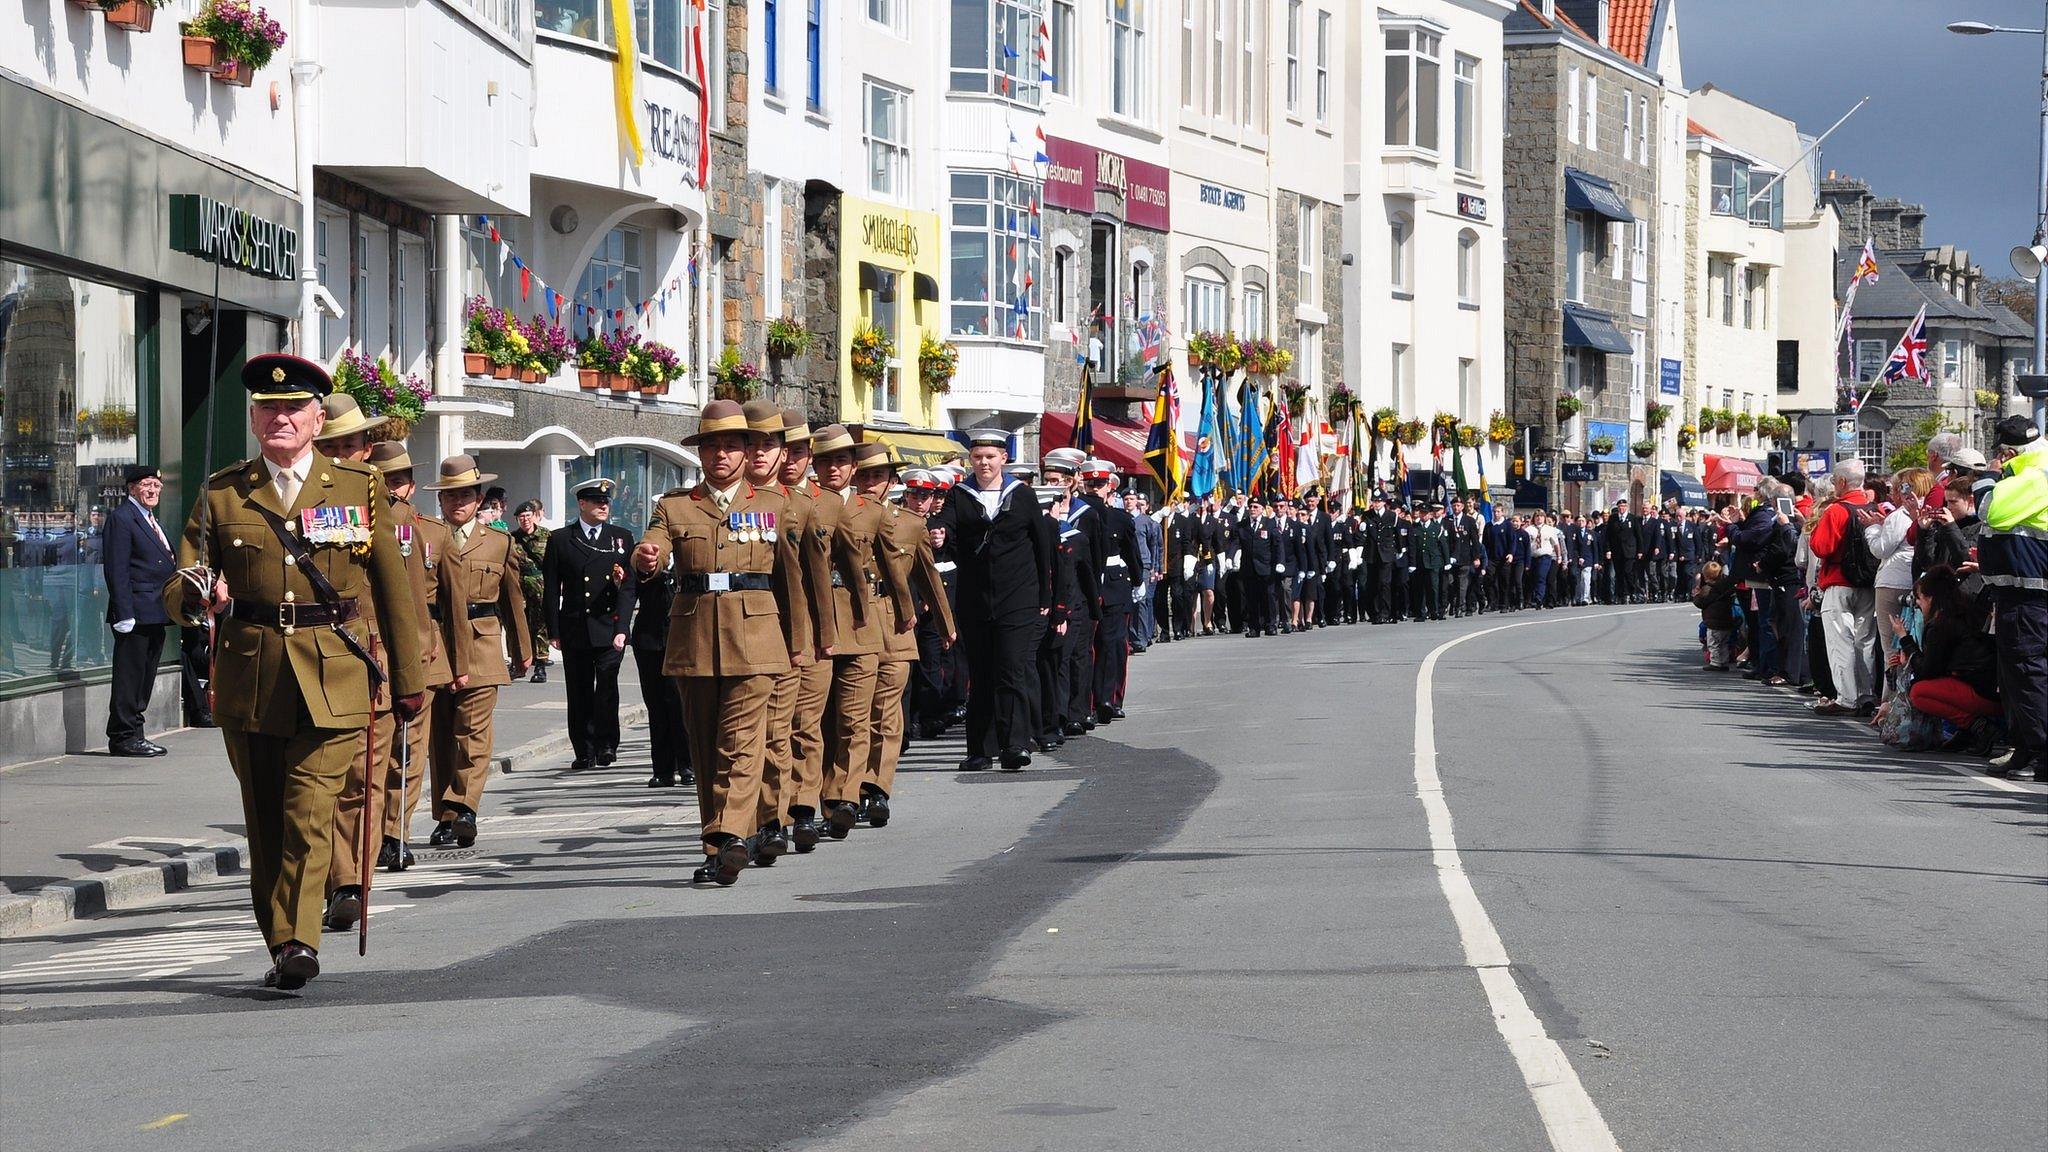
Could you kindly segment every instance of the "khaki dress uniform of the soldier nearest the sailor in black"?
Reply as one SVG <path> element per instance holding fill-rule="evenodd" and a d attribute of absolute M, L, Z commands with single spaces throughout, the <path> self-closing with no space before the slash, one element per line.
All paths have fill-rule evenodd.
<path fill-rule="evenodd" d="M 860 492 L 846 494 L 838 531 L 831 535 L 831 607 L 840 644 L 834 648 L 831 703 L 827 711 L 829 754 L 825 763 L 825 808 L 831 836 L 844 838 L 858 822 L 860 783 L 868 779 L 874 752 L 874 691 L 883 660 L 883 590 L 897 601 L 901 617 L 913 617 L 907 586 L 883 564 L 883 519 L 887 504 Z"/>

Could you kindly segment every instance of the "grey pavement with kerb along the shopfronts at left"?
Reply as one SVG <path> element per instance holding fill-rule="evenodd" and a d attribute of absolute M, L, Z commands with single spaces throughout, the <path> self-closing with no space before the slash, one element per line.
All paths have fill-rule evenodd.
<path fill-rule="evenodd" d="M 567 760 L 561 681 L 520 681 L 498 697 L 498 771 Z M 645 717 L 631 660 L 618 697 L 627 724 Z M 0 769 L 0 939 L 242 869 L 242 789 L 221 734 L 180 728 L 156 742 L 170 754 L 84 752 Z"/>

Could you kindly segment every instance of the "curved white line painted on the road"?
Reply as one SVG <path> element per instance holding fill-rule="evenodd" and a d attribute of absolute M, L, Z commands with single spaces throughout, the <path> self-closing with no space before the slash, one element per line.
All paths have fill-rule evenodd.
<path fill-rule="evenodd" d="M 1585 1095 L 1579 1072 L 1565 1058 L 1565 1050 L 1542 1029 L 1542 1021 L 1530 1011 L 1528 998 L 1507 970 L 1507 945 L 1495 931 L 1493 918 L 1479 902 L 1473 879 L 1464 873 L 1464 859 L 1458 857 L 1458 836 L 1450 826 L 1450 806 L 1444 804 L 1444 779 L 1436 773 L 1436 662 L 1466 640 L 1493 635 L 1516 627 L 1538 623 L 1569 623 L 1589 619 L 1614 619 L 1618 615 L 1665 611 L 1669 605 L 1653 609 L 1624 609 L 1583 617 L 1544 617 L 1520 623 L 1503 623 L 1446 640 L 1423 656 L 1415 672 L 1415 797 L 1430 814 L 1430 851 L 1436 859 L 1436 879 L 1450 902 L 1450 916 L 1458 922 L 1458 941 L 1464 945 L 1464 963 L 1479 972 L 1479 984 L 1487 990 L 1487 1004 L 1493 1009 L 1493 1027 L 1507 1041 L 1516 1066 L 1522 1068 L 1522 1082 L 1528 1084 L 1542 1115 L 1550 1148 L 1556 1152 L 1620 1152 L 1608 1119 L 1599 1115 L 1593 1097 Z"/>

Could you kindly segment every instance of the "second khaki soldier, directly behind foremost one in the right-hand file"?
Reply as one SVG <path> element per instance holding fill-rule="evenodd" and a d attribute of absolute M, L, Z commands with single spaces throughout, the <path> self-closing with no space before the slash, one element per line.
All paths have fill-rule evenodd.
<path fill-rule="evenodd" d="M 803 769 L 797 744 L 797 697 L 803 695 L 803 676 L 823 658 L 825 648 L 838 642 L 831 619 L 831 541 L 815 531 L 817 498 L 801 486 L 782 480 L 782 461 L 788 455 L 791 437 L 811 439 L 811 428 L 797 412 L 797 424 L 788 424 L 786 412 L 768 400 L 750 400 L 741 412 L 748 416 L 748 433 L 756 433 L 754 447 L 748 449 L 748 484 L 766 488 L 788 500 L 788 525 L 784 531 L 797 539 L 797 568 L 791 572 L 788 611 L 801 615 L 801 635 L 807 644 L 791 656 L 786 672 L 774 681 L 774 695 L 768 697 L 768 748 L 762 754 L 762 789 L 756 812 L 754 861 L 772 865 L 795 836 L 791 832 L 791 810 L 797 804 Z M 815 845 L 815 840 L 813 840 Z"/>

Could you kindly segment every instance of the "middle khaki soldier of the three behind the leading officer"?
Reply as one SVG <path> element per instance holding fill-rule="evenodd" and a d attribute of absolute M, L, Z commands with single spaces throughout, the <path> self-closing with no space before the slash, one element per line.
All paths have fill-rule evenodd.
<path fill-rule="evenodd" d="M 426 717 L 432 715 L 434 695 L 463 670 L 457 664 L 461 652 L 449 644 L 446 619 L 440 611 L 440 605 L 453 605 L 463 594 L 455 582 L 455 566 L 446 562 L 453 537 L 449 525 L 438 517 L 428 517 L 412 506 L 412 455 L 406 453 L 403 443 L 385 441 L 371 447 L 371 463 L 383 474 L 385 492 L 391 498 L 391 533 L 397 537 L 399 556 L 406 558 L 406 572 L 412 574 L 414 588 L 424 590 L 418 607 L 420 650 L 426 654 L 422 664 L 426 695 L 420 715 Z M 389 713 L 381 713 L 377 724 L 387 726 L 389 719 Z M 383 756 L 383 847 L 377 851 L 377 867 L 385 871 L 412 867 L 412 847 L 406 845 L 406 838 L 412 814 L 420 808 L 430 728 L 428 719 L 408 722 L 401 732 L 403 746 L 387 732 L 379 734 L 381 746 L 389 748 Z"/>

